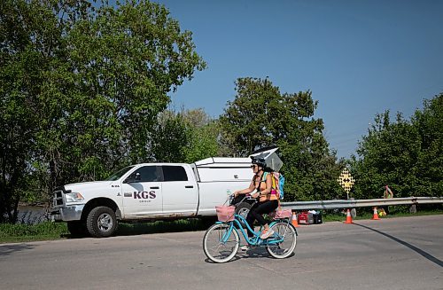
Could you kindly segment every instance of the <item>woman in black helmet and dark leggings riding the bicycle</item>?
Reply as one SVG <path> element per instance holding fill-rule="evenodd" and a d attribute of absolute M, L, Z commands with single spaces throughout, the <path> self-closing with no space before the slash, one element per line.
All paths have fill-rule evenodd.
<path fill-rule="evenodd" d="M 253 181 L 248 188 L 244 190 L 234 192 L 234 197 L 239 194 L 248 194 L 253 191 L 255 193 L 251 194 L 254 199 L 260 198 L 259 202 L 253 204 L 253 207 L 249 210 L 246 216 L 246 222 L 249 224 L 251 229 L 253 229 L 253 223 L 257 220 L 260 225 L 264 226 L 264 230 L 261 232 L 260 239 L 268 239 L 274 231 L 269 229 L 269 225 L 263 218 L 263 214 L 269 214 L 276 210 L 278 207 L 278 198 L 276 194 L 272 194 L 272 176 L 270 174 L 265 174 L 266 162 L 262 158 L 253 158 Z M 248 236 L 253 237 L 253 233 L 248 231 Z M 243 250 L 247 250 L 248 247 L 242 247 Z"/>

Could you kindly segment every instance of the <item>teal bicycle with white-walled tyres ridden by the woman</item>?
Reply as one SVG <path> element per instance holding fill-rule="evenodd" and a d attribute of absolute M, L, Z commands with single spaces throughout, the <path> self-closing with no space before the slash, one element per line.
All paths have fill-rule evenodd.
<path fill-rule="evenodd" d="M 235 214 L 228 218 L 219 216 L 219 220 L 221 221 L 207 229 L 203 238 L 203 251 L 206 257 L 215 263 L 228 262 L 237 254 L 240 246 L 238 231 L 243 234 L 250 246 L 266 247 L 269 255 L 276 259 L 284 259 L 294 253 L 297 245 L 297 230 L 287 216 L 278 217 L 277 214 L 274 221 L 269 223 L 269 228 L 274 231 L 274 234 L 268 239 L 260 239 L 262 227 L 260 231 L 253 231 L 244 216 Z M 247 231 L 253 233 L 252 238 L 248 238 Z"/>

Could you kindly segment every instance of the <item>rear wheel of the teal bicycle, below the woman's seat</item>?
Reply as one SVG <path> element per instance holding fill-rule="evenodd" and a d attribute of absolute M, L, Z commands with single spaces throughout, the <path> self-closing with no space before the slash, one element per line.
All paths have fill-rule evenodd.
<path fill-rule="evenodd" d="M 284 259 L 292 255 L 297 246 L 297 234 L 291 223 L 278 222 L 271 226 L 271 229 L 275 231 L 271 239 L 282 239 L 282 241 L 266 247 L 269 255 L 276 259 Z"/>

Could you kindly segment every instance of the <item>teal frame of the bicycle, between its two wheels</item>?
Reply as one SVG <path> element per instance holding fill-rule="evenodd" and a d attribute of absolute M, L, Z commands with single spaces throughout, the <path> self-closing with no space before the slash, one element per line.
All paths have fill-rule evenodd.
<path fill-rule="evenodd" d="M 269 227 L 273 226 L 275 223 L 280 223 L 280 222 L 288 223 L 288 226 L 290 226 L 289 225 L 289 220 L 275 220 L 275 221 L 272 221 L 272 223 L 269 224 Z M 217 223 L 229 223 L 229 230 L 221 238 L 221 242 L 223 242 L 223 243 L 225 243 L 229 239 L 230 234 L 232 233 L 232 231 L 237 231 L 237 228 L 235 227 L 235 225 L 237 225 L 238 229 L 243 234 L 243 237 L 245 238 L 247 243 L 249 245 L 252 245 L 252 246 L 278 245 L 279 243 L 282 243 L 284 241 L 284 235 L 286 234 L 286 232 L 284 232 L 284 235 L 281 236 L 281 235 L 275 233 L 274 237 L 271 237 L 271 238 L 268 238 L 268 239 L 260 239 L 260 231 L 261 231 L 262 227 L 260 227 L 260 231 L 259 232 L 253 231 L 253 229 L 251 229 L 249 224 L 246 222 L 245 217 L 239 216 L 239 215 L 235 215 L 233 221 L 230 221 L 230 222 L 217 222 Z M 246 231 L 243 228 L 241 223 L 244 223 L 246 225 Z M 250 231 L 250 232 L 253 233 L 253 237 L 252 238 L 248 237 L 247 231 Z M 295 232 L 297 234 L 297 231 L 295 231 Z M 237 233 L 238 233 L 238 231 L 237 231 Z"/>

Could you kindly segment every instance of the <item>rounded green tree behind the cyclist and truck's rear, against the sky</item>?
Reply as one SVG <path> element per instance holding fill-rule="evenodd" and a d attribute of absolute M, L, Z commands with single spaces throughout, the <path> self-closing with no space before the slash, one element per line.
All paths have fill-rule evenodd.
<path fill-rule="evenodd" d="M 237 79 L 236 90 L 220 122 L 237 155 L 277 145 L 288 200 L 336 197 L 340 188 L 332 180 L 339 167 L 323 137 L 323 120 L 313 117 L 317 102 L 311 91 L 282 94 L 268 79 L 257 78 Z"/>

